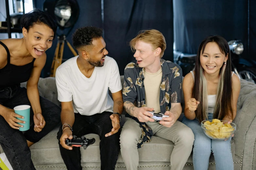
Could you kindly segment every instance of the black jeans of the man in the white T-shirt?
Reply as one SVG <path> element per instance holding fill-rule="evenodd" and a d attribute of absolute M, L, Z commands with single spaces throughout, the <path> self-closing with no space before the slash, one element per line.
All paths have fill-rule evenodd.
<path fill-rule="evenodd" d="M 92 116 L 84 116 L 75 113 L 75 122 L 73 125 L 73 135 L 81 137 L 87 134 L 98 134 L 100 137 L 100 160 L 101 170 L 113 170 L 118 158 L 120 149 L 120 130 L 109 137 L 105 135 L 111 132 L 112 121 L 110 119 L 111 112 L 98 113 Z M 68 170 L 81 170 L 81 152 L 80 147 L 73 147 L 72 150 L 63 148 L 60 145 L 60 137 L 62 129 L 58 132 L 60 154 L 67 166 Z"/>

